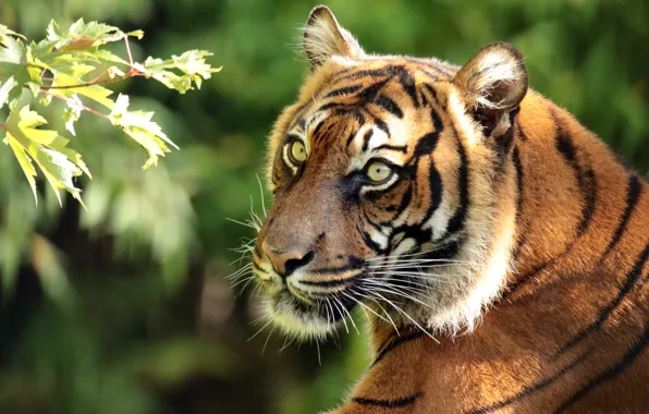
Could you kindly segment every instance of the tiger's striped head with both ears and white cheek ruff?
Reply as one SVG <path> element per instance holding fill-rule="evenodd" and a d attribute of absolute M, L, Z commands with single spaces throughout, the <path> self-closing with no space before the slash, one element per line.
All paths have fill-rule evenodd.
<path fill-rule="evenodd" d="M 266 312 L 301 336 L 354 307 L 473 329 L 509 269 L 516 180 L 502 159 L 527 92 L 521 53 L 495 44 L 463 68 L 368 54 L 326 7 L 304 50 L 310 74 L 269 139 L 273 204 L 253 255 Z"/>

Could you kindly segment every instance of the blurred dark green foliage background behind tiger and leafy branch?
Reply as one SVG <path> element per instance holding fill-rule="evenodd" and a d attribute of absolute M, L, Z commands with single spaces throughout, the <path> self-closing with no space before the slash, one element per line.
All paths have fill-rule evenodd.
<path fill-rule="evenodd" d="M 144 153 L 82 118 L 72 145 L 95 180 L 87 211 L 34 205 L 0 146 L 0 413 L 313 413 L 332 407 L 367 363 L 362 336 L 292 344 L 235 299 L 232 248 L 254 234 L 226 218 L 260 211 L 270 125 L 307 72 L 297 28 L 315 5 L 289 0 L 4 0 L 0 23 L 42 38 L 50 19 L 143 28 L 136 59 L 215 51 L 223 71 L 180 96 L 132 80 L 181 151 Z M 515 44 L 531 86 L 575 113 L 630 166 L 649 169 L 649 7 L 611 0 L 328 2 L 366 50 L 463 63 Z M 146 52 L 145 52 L 146 51 Z M 42 183 L 41 183 L 42 184 Z M 45 185 L 40 185 L 45 188 Z M 267 196 L 268 200 L 268 196 Z M 237 287 L 241 288 L 241 287 Z M 357 318 L 360 320 L 360 318 Z M 352 329 L 352 328 L 351 328 Z M 265 345 L 268 339 L 268 343 Z M 262 349 L 266 352 L 262 354 Z"/>

